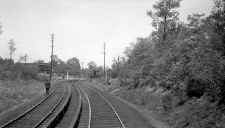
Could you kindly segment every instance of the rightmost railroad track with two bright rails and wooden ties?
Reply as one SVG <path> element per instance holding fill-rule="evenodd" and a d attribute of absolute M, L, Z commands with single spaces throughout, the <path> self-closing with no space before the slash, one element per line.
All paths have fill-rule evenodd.
<path fill-rule="evenodd" d="M 88 86 L 80 86 L 80 88 L 89 106 L 89 118 L 86 118 L 88 128 L 125 128 L 116 109 L 106 98 Z M 82 119 L 82 114 L 81 112 L 80 119 Z"/>

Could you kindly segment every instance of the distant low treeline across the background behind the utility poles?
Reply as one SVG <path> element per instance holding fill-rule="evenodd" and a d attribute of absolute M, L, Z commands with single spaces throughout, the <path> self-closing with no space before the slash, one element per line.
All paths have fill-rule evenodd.
<path fill-rule="evenodd" d="M 13 39 L 8 43 L 9 58 L 0 57 L 0 79 L 15 80 L 15 79 L 37 79 L 47 80 L 50 73 L 50 62 L 37 60 L 28 63 L 28 54 L 20 56 L 17 62 L 14 61 L 13 55 L 16 52 L 16 43 Z M 94 61 L 87 64 L 87 68 L 81 69 L 80 60 L 72 57 L 66 61 L 60 59 L 57 55 L 53 55 L 53 74 L 56 77 L 66 78 L 66 75 L 72 77 L 87 77 L 87 78 L 102 78 L 103 68 L 97 66 Z"/>

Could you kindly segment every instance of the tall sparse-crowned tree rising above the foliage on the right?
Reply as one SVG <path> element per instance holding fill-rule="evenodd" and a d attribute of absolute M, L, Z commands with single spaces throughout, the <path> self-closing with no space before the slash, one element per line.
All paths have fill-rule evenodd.
<path fill-rule="evenodd" d="M 159 0 L 153 5 L 155 12 L 147 12 L 153 19 L 153 27 L 162 33 L 163 40 L 166 39 L 168 31 L 176 26 L 175 22 L 178 20 L 179 13 L 175 9 L 180 6 L 180 2 L 181 0 Z"/>

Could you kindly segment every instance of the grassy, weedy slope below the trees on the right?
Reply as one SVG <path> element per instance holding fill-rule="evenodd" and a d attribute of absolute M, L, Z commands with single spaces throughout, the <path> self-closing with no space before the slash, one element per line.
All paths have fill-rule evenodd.
<path fill-rule="evenodd" d="M 128 89 L 112 84 L 104 90 L 148 110 L 150 116 L 172 128 L 225 128 L 225 106 L 218 107 L 204 96 L 188 98 L 178 105 L 180 97 L 160 88 Z"/>

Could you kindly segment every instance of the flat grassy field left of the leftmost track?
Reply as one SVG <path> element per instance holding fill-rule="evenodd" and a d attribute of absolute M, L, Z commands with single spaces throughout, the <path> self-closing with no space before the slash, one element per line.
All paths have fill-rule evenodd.
<path fill-rule="evenodd" d="M 44 86 L 38 81 L 0 81 L 0 113 L 43 93 Z"/>

